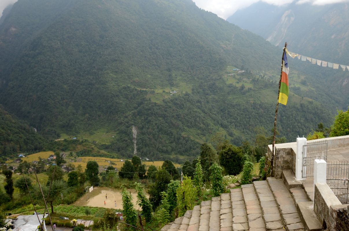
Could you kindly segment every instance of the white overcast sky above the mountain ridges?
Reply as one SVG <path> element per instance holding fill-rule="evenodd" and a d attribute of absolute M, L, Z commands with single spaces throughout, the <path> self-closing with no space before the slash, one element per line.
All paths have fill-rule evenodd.
<path fill-rule="evenodd" d="M 0 17 L 3 9 L 11 3 L 17 0 L 0 0 Z M 250 6 L 251 4 L 260 0 L 193 0 L 196 6 L 211 11 L 221 18 L 227 19 L 236 10 Z M 261 0 L 273 5 L 285 5 L 289 4 L 294 0 Z M 329 3 L 337 2 L 349 2 L 349 0 L 297 0 L 298 3 L 302 4 L 305 2 L 312 2 L 314 5 L 326 5 Z"/>

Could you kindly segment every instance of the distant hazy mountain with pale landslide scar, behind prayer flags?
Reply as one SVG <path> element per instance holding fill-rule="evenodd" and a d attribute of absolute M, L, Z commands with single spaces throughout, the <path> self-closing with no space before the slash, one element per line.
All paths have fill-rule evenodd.
<path fill-rule="evenodd" d="M 227 20 L 259 34 L 276 46 L 283 47 L 287 41 L 290 51 L 349 65 L 348 3 L 319 6 L 311 3 L 297 4 L 294 1 L 285 6 L 273 6 L 257 2 L 238 10 Z M 311 72 L 321 78 L 331 94 L 343 98 L 339 101 L 340 107 L 348 107 L 349 98 L 343 97 L 349 93 L 348 69 L 342 72 L 310 67 L 309 63 L 296 62 L 295 65 L 305 73 Z M 308 80 L 313 81 L 314 79 Z M 327 89 L 324 91 L 327 92 Z"/>

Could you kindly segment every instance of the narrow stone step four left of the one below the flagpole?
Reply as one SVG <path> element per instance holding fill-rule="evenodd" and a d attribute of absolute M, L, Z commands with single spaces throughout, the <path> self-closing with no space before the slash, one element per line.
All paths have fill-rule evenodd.
<path fill-rule="evenodd" d="M 221 194 L 221 231 L 232 231 L 233 213 L 231 209 L 230 193 Z"/>

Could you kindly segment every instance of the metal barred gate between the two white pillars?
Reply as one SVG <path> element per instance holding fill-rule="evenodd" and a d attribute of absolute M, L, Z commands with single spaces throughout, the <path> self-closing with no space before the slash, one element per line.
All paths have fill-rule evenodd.
<path fill-rule="evenodd" d="M 309 141 L 303 146 L 302 177 L 314 176 L 314 160 L 327 160 L 326 140 Z"/>

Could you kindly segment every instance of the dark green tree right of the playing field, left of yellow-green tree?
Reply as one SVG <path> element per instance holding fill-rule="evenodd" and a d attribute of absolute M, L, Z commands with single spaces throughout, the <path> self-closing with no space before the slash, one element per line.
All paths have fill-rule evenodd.
<path fill-rule="evenodd" d="M 150 185 L 148 190 L 149 201 L 153 205 L 153 209 L 159 206 L 161 201 L 161 192 L 167 190 L 167 185 L 171 181 L 171 176 L 165 169 L 156 172 L 155 183 Z"/>

